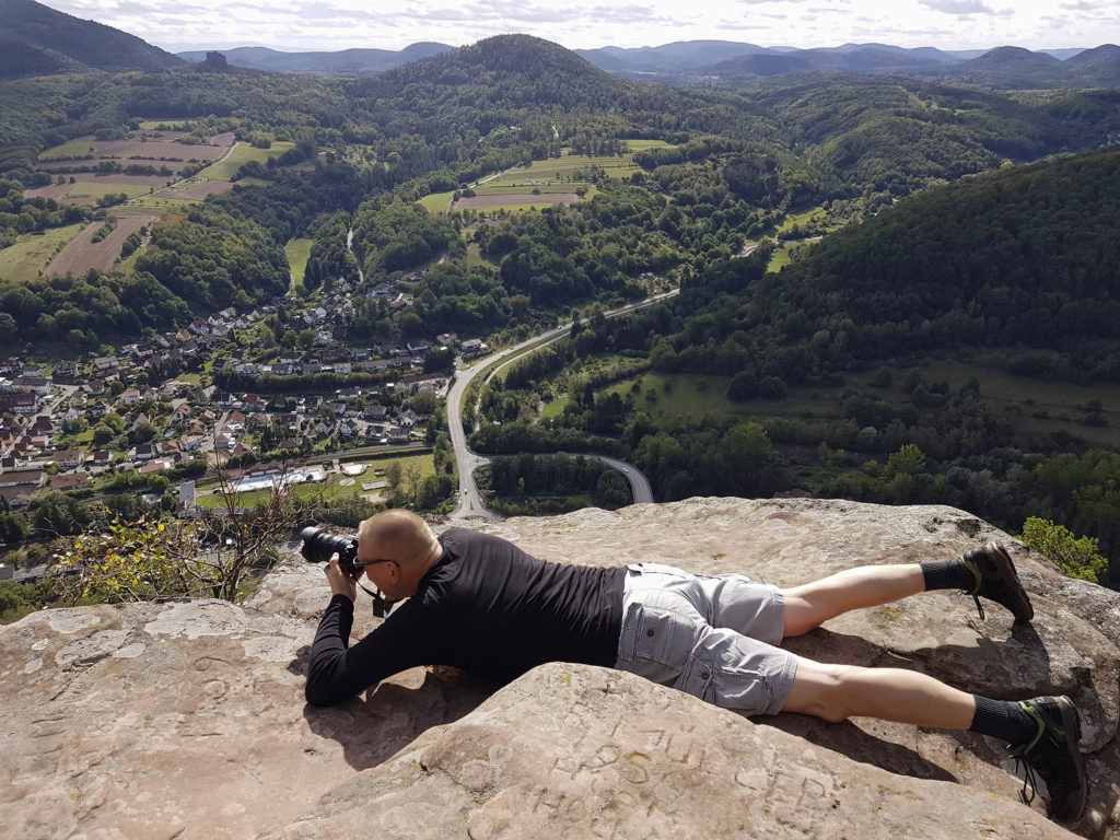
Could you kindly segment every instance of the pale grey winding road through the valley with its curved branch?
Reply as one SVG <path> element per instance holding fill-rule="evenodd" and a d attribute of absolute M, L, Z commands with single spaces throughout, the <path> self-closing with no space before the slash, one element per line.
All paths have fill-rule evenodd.
<path fill-rule="evenodd" d="M 627 304 L 626 306 L 618 307 L 617 309 L 612 309 L 604 312 L 604 315 L 608 318 L 627 315 L 636 311 L 637 309 L 653 306 L 654 304 L 671 298 L 676 293 L 678 290 L 673 289 L 672 291 L 666 291 L 661 295 L 654 295 L 653 297 L 646 298 L 645 300 L 641 300 L 636 304 Z M 580 320 L 584 323 L 586 319 Z M 572 321 L 569 321 L 568 324 L 563 324 L 554 329 L 541 333 L 522 342 L 521 344 L 507 347 L 493 356 L 487 356 L 473 365 L 460 367 L 456 373 L 455 382 L 447 392 L 447 427 L 451 435 L 451 447 L 455 450 L 456 467 L 459 472 L 459 506 L 455 510 L 451 516 L 457 519 L 467 516 L 482 516 L 491 520 L 502 519 L 498 514 L 486 507 L 486 503 L 484 502 L 482 494 L 478 492 L 478 487 L 475 485 L 475 469 L 489 463 L 489 458 L 477 455 L 467 448 L 467 436 L 463 428 L 463 398 L 467 392 L 467 388 L 480 374 L 494 374 L 526 353 L 531 353 L 541 347 L 547 347 L 553 342 L 563 338 L 571 332 L 571 326 Z M 633 464 L 627 464 L 626 461 L 622 461 L 616 458 L 608 458 L 604 455 L 587 452 L 581 452 L 581 455 L 587 458 L 601 460 L 622 472 L 626 480 L 629 482 L 631 492 L 634 494 L 635 503 L 653 501 L 653 489 L 650 486 L 650 479 L 646 478 L 645 474 Z"/>

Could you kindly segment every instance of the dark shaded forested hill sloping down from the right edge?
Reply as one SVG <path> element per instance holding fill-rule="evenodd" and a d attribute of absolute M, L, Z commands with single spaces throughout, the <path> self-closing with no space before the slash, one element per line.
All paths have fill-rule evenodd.
<path fill-rule="evenodd" d="M 806 345 L 843 333 L 858 358 L 1024 345 L 1120 382 L 1118 280 L 1120 151 L 1107 151 L 904 199 L 813 248 L 762 299 L 765 329 Z"/>

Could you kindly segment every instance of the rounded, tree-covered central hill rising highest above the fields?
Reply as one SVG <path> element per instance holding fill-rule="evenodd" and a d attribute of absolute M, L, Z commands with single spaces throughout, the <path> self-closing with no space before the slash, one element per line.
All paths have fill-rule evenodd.
<path fill-rule="evenodd" d="M 348 83 L 346 95 L 386 136 L 458 143 L 469 130 L 497 131 L 502 144 L 522 144 L 538 158 L 561 146 L 590 148 L 590 138 L 683 142 L 690 132 L 711 132 L 763 142 L 775 133 L 736 94 L 629 82 L 529 35 L 500 35 L 394 67 Z"/>

